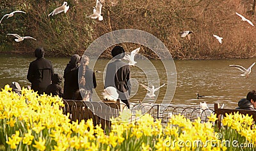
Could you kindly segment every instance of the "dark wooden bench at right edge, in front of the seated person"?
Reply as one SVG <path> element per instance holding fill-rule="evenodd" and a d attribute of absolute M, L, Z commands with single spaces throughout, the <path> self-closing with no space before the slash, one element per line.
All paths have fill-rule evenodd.
<path fill-rule="evenodd" d="M 243 115 L 249 115 L 249 116 L 252 115 L 254 122 L 256 122 L 256 111 L 245 110 L 245 109 L 221 109 L 220 104 L 214 104 L 214 113 L 217 115 L 216 117 L 218 118 L 218 120 L 216 120 L 216 124 L 218 123 L 219 129 L 221 128 L 221 115 L 225 116 L 226 113 L 234 114 L 234 113 L 237 113 L 237 111 Z"/>

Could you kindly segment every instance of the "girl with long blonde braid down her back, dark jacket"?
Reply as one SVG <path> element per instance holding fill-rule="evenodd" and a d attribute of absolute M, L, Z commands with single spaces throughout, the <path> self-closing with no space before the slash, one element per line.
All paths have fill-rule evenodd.
<path fill-rule="evenodd" d="M 81 91 L 81 96 L 83 98 L 86 98 L 86 95 L 89 94 L 90 101 L 92 101 L 92 89 L 96 88 L 96 78 L 95 78 L 95 72 L 93 72 L 92 69 L 88 67 L 90 59 L 88 56 L 82 56 L 81 63 L 80 63 L 80 72 L 79 72 L 79 86 Z M 86 92 L 86 93 L 85 93 Z"/>

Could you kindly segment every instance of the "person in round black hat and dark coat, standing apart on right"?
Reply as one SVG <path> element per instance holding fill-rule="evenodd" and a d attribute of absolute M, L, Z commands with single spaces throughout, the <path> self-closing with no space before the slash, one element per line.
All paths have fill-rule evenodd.
<path fill-rule="evenodd" d="M 129 108 L 129 95 L 131 94 L 131 83 L 129 82 L 130 66 L 121 59 L 125 56 L 124 48 L 115 46 L 111 55 L 113 61 L 108 64 L 105 78 L 105 88 L 113 86 L 116 88 L 119 99 Z"/>

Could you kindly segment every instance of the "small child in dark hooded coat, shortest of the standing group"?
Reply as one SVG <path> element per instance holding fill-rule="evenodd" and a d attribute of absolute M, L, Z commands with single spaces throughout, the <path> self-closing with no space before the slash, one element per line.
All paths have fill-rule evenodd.
<path fill-rule="evenodd" d="M 53 74 L 52 76 L 52 84 L 47 86 L 45 93 L 47 95 L 58 95 L 59 97 L 63 97 L 63 89 L 61 88 L 60 84 L 62 81 L 62 77 L 60 77 L 58 74 Z"/>

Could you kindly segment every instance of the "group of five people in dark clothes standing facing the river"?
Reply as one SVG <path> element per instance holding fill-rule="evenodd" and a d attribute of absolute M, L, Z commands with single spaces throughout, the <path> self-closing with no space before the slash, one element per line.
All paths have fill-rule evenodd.
<path fill-rule="evenodd" d="M 93 88 L 97 82 L 95 72 L 88 67 L 88 56 L 71 56 L 64 70 L 64 88 L 61 88 L 62 77 L 54 74 L 54 68 L 49 60 L 44 58 L 42 47 L 35 50 L 36 60 L 29 64 L 27 79 L 31 83 L 31 89 L 40 94 L 52 94 L 67 100 L 92 101 Z M 111 50 L 113 61 L 108 64 L 104 88 L 114 87 L 118 93 L 118 99 L 129 107 L 129 95 L 131 93 L 130 66 L 121 59 L 125 56 L 124 48 L 117 45 Z"/>

